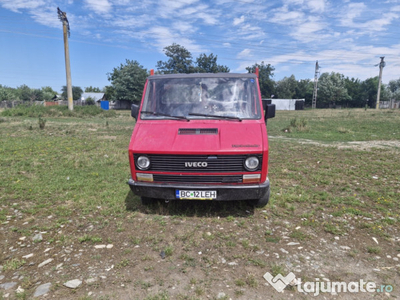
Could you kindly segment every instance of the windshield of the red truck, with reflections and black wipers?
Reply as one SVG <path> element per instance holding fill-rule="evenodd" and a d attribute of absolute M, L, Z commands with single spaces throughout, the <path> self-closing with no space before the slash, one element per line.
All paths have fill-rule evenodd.
<path fill-rule="evenodd" d="M 141 119 L 260 119 L 257 83 L 249 77 L 149 79 Z"/>

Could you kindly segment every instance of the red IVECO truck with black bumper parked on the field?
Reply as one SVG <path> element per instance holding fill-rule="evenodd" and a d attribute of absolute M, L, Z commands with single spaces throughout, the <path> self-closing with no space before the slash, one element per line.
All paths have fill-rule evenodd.
<path fill-rule="evenodd" d="M 275 105 L 261 100 L 256 74 L 151 75 L 131 115 L 128 184 L 143 204 L 268 203 L 266 120 Z"/>

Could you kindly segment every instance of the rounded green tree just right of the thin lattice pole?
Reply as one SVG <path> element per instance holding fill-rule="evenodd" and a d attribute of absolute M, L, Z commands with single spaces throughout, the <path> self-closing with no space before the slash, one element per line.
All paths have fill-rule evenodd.
<path fill-rule="evenodd" d="M 351 100 L 349 96 L 344 76 L 339 73 L 323 73 L 318 80 L 318 106 L 328 106 L 343 104 Z"/>

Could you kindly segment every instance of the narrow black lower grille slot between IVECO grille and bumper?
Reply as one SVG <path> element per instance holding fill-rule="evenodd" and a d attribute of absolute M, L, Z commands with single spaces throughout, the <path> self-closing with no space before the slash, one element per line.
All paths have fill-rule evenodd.
<path fill-rule="evenodd" d="M 242 175 L 160 175 L 154 174 L 155 182 L 189 182 L 189 183 L 241 183 Z"/>

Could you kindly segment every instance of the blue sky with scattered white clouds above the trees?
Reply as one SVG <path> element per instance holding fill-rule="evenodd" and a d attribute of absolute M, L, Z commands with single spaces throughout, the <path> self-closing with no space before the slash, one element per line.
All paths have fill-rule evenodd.
<path fill-rule="evenodd" d="M 275 67 L 274 80 L 339 72 L 383 82 L 400 78 L 400 0 L 0 0 L 0 84 L 66 84 L 62 24 L 67 13 L 72 84 L 109 85 L 107 73 L 137 60 L 155 69 L 163 48 L 218 56 L 231 72 L 254 63 Z"/>

